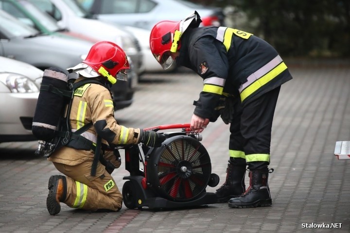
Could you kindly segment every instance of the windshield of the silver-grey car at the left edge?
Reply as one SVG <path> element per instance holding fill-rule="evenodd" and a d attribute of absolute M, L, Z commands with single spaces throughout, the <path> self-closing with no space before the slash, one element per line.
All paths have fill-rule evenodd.
<path fill-rule="evenodd" d="M 1 33 L 6 34 L 9 38 L 17 36 L 30 37 L 39 34 L 34 28 L 2 11 L 0 11 L 0 25 Z"/>

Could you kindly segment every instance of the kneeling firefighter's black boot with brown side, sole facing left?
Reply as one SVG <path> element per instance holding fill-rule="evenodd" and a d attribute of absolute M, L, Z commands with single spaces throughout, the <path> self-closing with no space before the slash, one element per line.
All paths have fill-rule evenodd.
<path fill-rule="evenodd" d="M 57 215 L 61 211 L 60 202 L 66 200 L 67 197 L 67 181 L 66 177 L 55 180 L 49 195 L 46 199 L 46 207 L 50 215 Z"/>

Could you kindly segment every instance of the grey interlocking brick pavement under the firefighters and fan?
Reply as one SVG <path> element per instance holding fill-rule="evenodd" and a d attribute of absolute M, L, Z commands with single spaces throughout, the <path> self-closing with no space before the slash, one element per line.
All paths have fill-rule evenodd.
<path fill-rule="evenodd" d="M 288 65 L 288 63 L 287 63 Z M 294 64 L 293 64 L 294 65 Z M 336 141 L 350 140 L 350 66 L 293 66 L 294 79 L 282 85 L 271 142 L 271 207 L 231 209 L 227 203 L 155 211 L 143 208 L 90 213 L 61 204 L 46 210 L 47 181 L 59 174 L 35 157 L 36 142 L 0 144 L 1 233 L 267 233 L 350 232 L 350 161 L 333 155 Z M 128 127 L 188 123 L 202 80 L 192 72 L 147 74 L 131 107 L 116 111 Z M 212 172 L 226 177 L 228 125 L 221 120 L 203 131 Z M 123 151 L 122 155 L 123 155 Z M 120 189 L 124 165 L 112 174 Z M 248 184 L 246 177 L 246 184 Z M 341 223 L 341 228 L 302 224 Z M 308 225 L 310 226 L 310 225 Z M 337 225 L 339 226 L 339 225 Z"/>

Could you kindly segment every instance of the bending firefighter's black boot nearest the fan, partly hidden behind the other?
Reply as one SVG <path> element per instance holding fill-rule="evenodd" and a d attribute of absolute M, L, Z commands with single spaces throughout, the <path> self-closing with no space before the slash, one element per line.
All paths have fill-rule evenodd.
<path fill-rule="evenodd" d="M 245 192 L 245 166 L 234 166 L 229 163 L 226 172 L 225 183 L 215 192 L 218 202 L 227 202 Z"/>

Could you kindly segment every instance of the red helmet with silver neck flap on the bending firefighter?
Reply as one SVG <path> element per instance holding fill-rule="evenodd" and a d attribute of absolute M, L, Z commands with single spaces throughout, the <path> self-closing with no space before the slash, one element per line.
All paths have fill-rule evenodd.
<path fill-rule="evenodd" d="M 160 21 L 152 29 L 150 34 L 150 48 L 153 56 L 163 69 L 169 68 L 175 59 L 175 52 L 180 49 L 180 37 L 188 27 L 198 27 L 202 22 L 198 13 L 181 20 Z"/>

